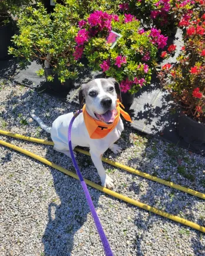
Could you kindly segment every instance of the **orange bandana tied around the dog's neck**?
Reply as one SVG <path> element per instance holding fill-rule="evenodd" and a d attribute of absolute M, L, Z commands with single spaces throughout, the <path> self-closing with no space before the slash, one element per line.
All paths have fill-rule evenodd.
<path fill-rule="evenodd" d="M 121 102 L 117 100 L 117 114 L 114 118 L 114 122 L 111 124 L 106 124 L 100 120 L 92 118 L 90 114 L 88 114 L 88 112 L 86 111 L 85 105 L 82 107 L 85 126 L 91 139 L 103 139 L 105 136 L 107 136 L 107 134 L 110 133 L 117 126 L 117 123 L 120 119 L 120 114 L 124 117 L 125 120 L 127 120 L 128 122 L 132 122 L 129 114 L 121 109 L 120 105 L 124 108 L 123 104 L 121 104 Z"/>

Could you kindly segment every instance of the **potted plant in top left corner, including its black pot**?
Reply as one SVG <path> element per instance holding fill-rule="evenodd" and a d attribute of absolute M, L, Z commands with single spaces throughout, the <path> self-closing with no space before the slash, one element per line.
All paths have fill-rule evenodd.
<path fill-rule="evenodd" d="M 0 60 L 8 57 L 8 47 L 11 45 L 11 37 L 14 35 L 12 15 L 18 14 L 22 5 L 29 1 L 2 0 L 0 1 Z"/>

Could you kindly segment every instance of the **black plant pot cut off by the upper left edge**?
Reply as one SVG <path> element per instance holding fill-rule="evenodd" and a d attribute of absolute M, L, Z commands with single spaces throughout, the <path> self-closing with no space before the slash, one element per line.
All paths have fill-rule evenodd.
<path fill-rule="evenodd" d="M 12 21 L 5 26 L 0 27 L 0 60 L 6 60 L 6 58 L 9 57 L 8 47 L 12 45 L 12 35 L 14 35 Z"/>

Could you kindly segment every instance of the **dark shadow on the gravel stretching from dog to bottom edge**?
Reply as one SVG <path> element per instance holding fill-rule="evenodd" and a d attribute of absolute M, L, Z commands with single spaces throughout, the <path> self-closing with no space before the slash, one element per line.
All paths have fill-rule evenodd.
<path fill-rule="evenodd" d="M 62 153 L 55 152 L 52 147 L 48 148 L 45 158 L 52 158 L 52 162 L 75 172 L 71 159 Z M 77 162 L 85 178 L 100 184 L 100 178 L 90 157 L 78 153 Z M 80 232 L 87 232 L 83 230 L 82 225 L 87 220 L 90 208 L 79 180 L 53 168 L 51 168 L 51 174 L 58 199 L 54 199 L 48 206 L 48 222 L 42 237 L 44 254 L 68 256 L 71 255 L 74 246 L 79 250 L 84 246 L 84 241 L 74 244 L 74 235 L 78 229 L 81 229 Z M 88 189 L 96 209 L 101 192 L 90 187 Z M 87 235 L 90 239 L 90 234 Z"/>

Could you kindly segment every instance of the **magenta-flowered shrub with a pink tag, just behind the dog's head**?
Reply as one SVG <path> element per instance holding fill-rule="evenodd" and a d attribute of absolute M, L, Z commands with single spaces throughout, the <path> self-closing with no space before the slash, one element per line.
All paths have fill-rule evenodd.
<path fill-rule="evenodd" d="M 150 83 L 157 49 L 167 42 L 160 30 L 144 31 L 133 15 L 117 16 L 103 11 L 93 12 L 79 22 L 79 27 L 75 37 L 75 60 L 84 54 L 90 67 L 114 77 L 124 93 L 135 93 Z M 111 29 L 121 35 L 114 48 L 111 45 L 116 35 L 110 33 Z"/>

